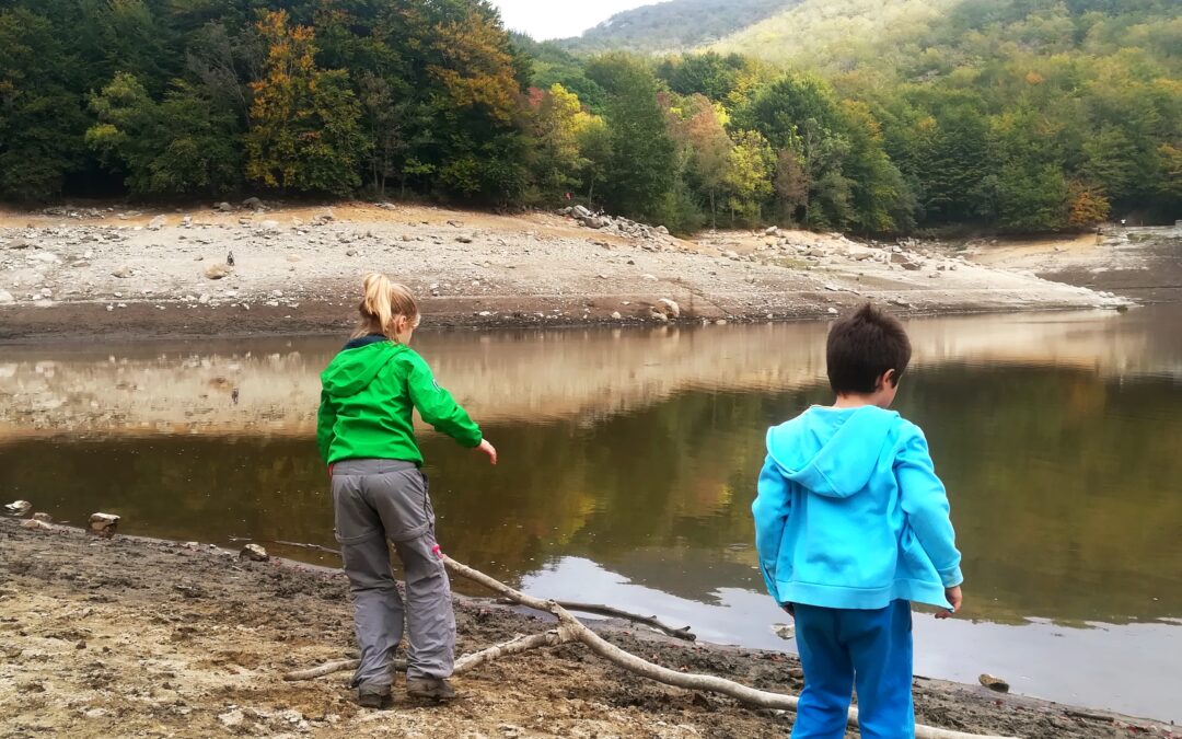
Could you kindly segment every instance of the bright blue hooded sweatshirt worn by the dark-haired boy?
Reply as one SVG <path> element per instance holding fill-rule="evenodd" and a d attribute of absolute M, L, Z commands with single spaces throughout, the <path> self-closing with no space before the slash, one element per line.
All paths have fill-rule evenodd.
<path fill-rule="evenodd" d="M 891 410 L 814 406 L 768 429 L 752 513 L 781 604 L 952 608 L 944 589 L 963 579 L 928 442 Z"/>

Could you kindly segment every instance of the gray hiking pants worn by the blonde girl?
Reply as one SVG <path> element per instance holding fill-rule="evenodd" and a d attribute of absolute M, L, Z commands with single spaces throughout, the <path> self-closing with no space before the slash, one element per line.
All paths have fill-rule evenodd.
<path fill-rule="evenodd" d="M 410 462 L 349 460 L 332 469 L 337 540 L 355 599 L 362 663 L 353 686 L 381 689 L 409 621 L 408 678 L 447 678 L 455 660 L 455 614 L 427 478 Z M 407 576 L 405 615 L 390 571 L 394 544 Z"/>

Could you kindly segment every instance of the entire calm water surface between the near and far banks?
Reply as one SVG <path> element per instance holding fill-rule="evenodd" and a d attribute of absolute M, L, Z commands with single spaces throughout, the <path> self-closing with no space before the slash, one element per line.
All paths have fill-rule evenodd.
<path fill-rule="evenodd" d="M 917 616 L 916 672 L 1182 719 L 1182 310 L 908 328 L 897 409 L 928 435 L 966 575 L 962 618 Z M 423 434 L 441 540 L 538 595 L 793 649 L 749 504 L 766 427 L 831 401 L 825 330 L 416 337 L 501 454 Z M 0 346 L 0 495 L 333 564 L 274 543 L 335 546 L 311 423 L 339 343 Z"/>

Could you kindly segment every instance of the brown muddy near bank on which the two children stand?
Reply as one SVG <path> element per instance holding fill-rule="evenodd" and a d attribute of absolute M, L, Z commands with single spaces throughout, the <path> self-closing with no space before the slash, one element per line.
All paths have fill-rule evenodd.
<path fill-rule="evenodd" d="M 782 737 L 791 715 L 642 681 L 580 647 L 486 666 L 447 706 L 396 693 L 358 708 L 346 676 L 281 675 L 348 655 L 348 588 L 337 572 L 247 563 L 208 547 L 0 520 L 0 733 L 97 737 Z M 460 650 L 545 628 L 538 617 L 457 598 Z M 777 653 L 687 644 L 622 624 L 621 647 L 687 670 L 798 692 Z M 917 679 L 917 715 L 1021 737 L 1175 737 L 1170 727 L 981 687 Z M 851 735 L 857 735 L 851 732 Z"/>

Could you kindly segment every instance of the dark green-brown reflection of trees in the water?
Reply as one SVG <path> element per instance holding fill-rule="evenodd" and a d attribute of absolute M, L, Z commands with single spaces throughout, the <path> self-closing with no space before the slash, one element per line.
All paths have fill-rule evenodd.
<path fill-rule="evenodd" d="M 423 439 L 440 537 L 509 581 L 582 556 L 710 601 L 758 590 L 749 503 L 764 428 L 824 388 L 674 395 L 629 414 L 487 429 L 501 465 Z M 1121 622 L 1182 615 L 1182 393 L 1078 370 L 944 365 L 905 380 L 950 490 L 972 615 Z M 128 531 L 332 545 L 310 440 L 152 437 L 0 446 L 0 490 Z"/>

